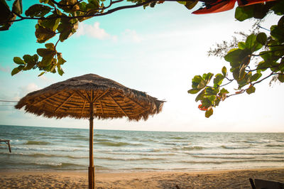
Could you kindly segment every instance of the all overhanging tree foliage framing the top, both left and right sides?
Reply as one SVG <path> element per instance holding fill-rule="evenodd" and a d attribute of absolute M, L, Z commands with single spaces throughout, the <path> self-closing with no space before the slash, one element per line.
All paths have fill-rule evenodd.
<path fill-rule="evenodd" d="M 38 69 L 40 75 L 45 72 L 58 72 L 62 75 L 62 65 L 66 62 L 62 53 L 56 47 L 77 31 L 79 22 L 96 16 L 104 16 L 122 9 L 131 9 L 138 6 L 154 7 L 163 4 L 164 1 L 153 0 L 39 0 L 39 4 L 33 4 L 25 11 L 22 0 L 13 0 L 11 7 L 6 3 L 11 0 L 0 0 L 0 31 L 9 30 L 12 23 L 26 19 L 37 20 L 35 25 L 35 37 L 37 43 L 45 43 L 45 48 L 38 48 L 34 55 L 23 55 L 23 58 L 15 57 L 13 62 L 17 67 L 11 72 Z M 175 0 L 165 0 L 175 1 Z M 227 11 L 234 7 L 237 0 L 184 0 L 178 3 L 187 9 L 192 9 L 202 1 L 203 7 L 193 13 L 214 13 Z M 263 4 L 263 1 L 267 1 Z M 245 36 L 244 41 L 234 39 L 233 43 L 225 43 L 217 50 L 209 52 L 212 55 L 224 57 L 229 62 L 230 68 L 222 68 L 222 72 L 216 75 L 204 73 L 196 75 L 192 79 L 190 94 L 197 94 L 196 102 L 201 104 L 198 108 L 205 112 L 205 117 L 213 114 L 213 108 L 221 101 L 233 95 L 241 93 L 251 94 L 256 91 L 255 85 L 263 80 L 273 77 L 273 81 L 284 82 L 284 1 L 282 0 L 238 0 L 235 18 L 244 21 L 249 18 L 264 18 L 268 13 L 282 16 L 277 25 L 270 28 L 270 35 L 266 33 L 251 33 Z M 24 16 L 23 16 L 24 13 Z M 244 35 L 243 35 L 244 36 Z M 51 38 L 58 38 L 57 43 L 46 43 Z M 230 50 L 227 52 L 227 50 Z M 252 58 L 257 58 L 256 65 L 251 63 Z M 269 72 L 267 74 L 267 72 Z M 39 76 L 40 76 L 39 75 Z M 212 81 L 212 85 L 209 83 Z M 229 93 L 224 86 L 236 82 L 236 92 Z"/>

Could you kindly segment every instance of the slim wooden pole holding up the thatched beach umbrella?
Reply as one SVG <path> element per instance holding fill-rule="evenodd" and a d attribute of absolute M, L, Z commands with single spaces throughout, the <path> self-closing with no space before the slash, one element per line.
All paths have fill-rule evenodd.
<path fill-rule="evenodd" d="M 89 105 L 89 189 L 94 189 L 94 104 Z"/>

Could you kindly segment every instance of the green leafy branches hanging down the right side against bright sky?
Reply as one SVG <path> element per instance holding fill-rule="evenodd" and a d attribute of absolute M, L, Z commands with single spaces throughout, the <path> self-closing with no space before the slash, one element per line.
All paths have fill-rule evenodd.
<path fill-rule="evenodd" d="M 197 94 L 196 102 L 201 102 L 198 108 L 205 111 L 205 117 L 213 114 L 213 108 L 219 106 L 221 101 L 233 95 L 244 92 L 252 94 L 256 92 L 256 84 L 272 78 L 284 82 L 284 1 L 269 2 L 266 4 L 253 4 L 251 6 L 237 7 L 235 18 L 244 21 L 248 18 L 264 18 L 267 13 L 275 13 L 280 17 L 278 23 L 271 26 L 270 36 L 266 33 L 251 33 L 244 41 L 236 41 L 224 54 L 224 60 L 229 63 L 222 72 L 216 75 L 204 73 L 195 75 L 192 79 L 190 94 Z M 224 49 L 229 45 L 220 45 L 219 50 L 211 50 L 209 54 L 223 56 Z M 256 63 L 252 63 L 256 58 Z M 213 79 L 213 84 L 209 82 Z M 224 88 L 231 82 L 236 82 L 238 87 L 235 92 L 229 92 Z"/>

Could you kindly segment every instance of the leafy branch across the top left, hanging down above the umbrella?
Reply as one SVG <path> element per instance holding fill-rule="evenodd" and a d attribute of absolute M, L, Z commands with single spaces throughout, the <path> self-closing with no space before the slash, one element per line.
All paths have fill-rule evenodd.
<path fill-rule="evenodd" d="M 57 43 L 45 43 L 45 48 L 38 48 L 35 55 L 23 55 L 23 58 L 15 57 L 13 61 L 18 67 L 13 69 L 11 75 L 31 69 L 41 70 L 40 75 L 45 72 L 58 72 L 59 75 L 62 75 L 64 72 L 61 67 L 66 60 L 62 58 L 62 54 L 57 51 L 56 46 L 77 31 L 79 22 L 122 9 L 138 6 L 143 6 L 145 9 L 147 6 L 154 7 L 156 4 L 164 2 L 153 0 L 126 0 L 126 2 L 124 0 L 39 0 L 38 4 L 33 4 L 25 11 L 22 0 L 13 0 L 11 7 L 6 1 L 11 0 L 0 0 L 0 31 L 8 30 L 12 23 L 17 21 L 33 19 L 38 21 L 35 25 L 37 43 L 45 43 L 51 38 L 58 38 Z M 187 9 L 192 9 L 198 1 L 178 2 Z"/>

